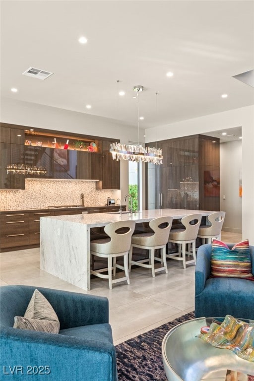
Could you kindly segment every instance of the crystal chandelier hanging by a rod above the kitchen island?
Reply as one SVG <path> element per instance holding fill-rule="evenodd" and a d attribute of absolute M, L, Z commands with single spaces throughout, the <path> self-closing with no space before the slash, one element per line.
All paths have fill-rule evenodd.
<path fill-rule="evenodd" d="M 162 164 L 162 150 L 160 148 L 143 147 L 139 144 L 139 107 L 138 107 L 138 93 L 143 91 L 141 85 L 133 87 L 137 92 L 137 123 L 138 123 L 138 144 L 122 144 L 111 143 L 110 152 L 112 153 L 113 160 L 128 160 L 153 164 Z"/>

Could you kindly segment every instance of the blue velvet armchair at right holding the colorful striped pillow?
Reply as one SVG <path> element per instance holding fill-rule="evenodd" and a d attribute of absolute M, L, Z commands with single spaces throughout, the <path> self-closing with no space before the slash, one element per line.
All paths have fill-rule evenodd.
<path fill-rule="evenodd" d="M 233 244 L 227 244 L 232 249 Z M 254 274 L 254 246 L 250 247 Z M 195 317 L 254 320 L 254 281 L 240 278 L 209 278 L 212 245 L 198 248 L 195 268 Z"/>

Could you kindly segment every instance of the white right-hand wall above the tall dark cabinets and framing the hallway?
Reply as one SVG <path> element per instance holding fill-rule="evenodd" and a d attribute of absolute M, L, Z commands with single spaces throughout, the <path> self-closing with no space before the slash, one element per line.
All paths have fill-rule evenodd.
<path fill-rule="evenodd" d="M 254 245 L 254 105 L 145 130 L 146 142 L 242 127 L 243 237 Z M 230 168 L 229 168 L 230 170 Z"/>

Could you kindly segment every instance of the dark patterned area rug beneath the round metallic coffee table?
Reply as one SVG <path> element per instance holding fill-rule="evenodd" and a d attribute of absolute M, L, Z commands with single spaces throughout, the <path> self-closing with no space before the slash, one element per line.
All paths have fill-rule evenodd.
<path fill-rule="evenodd" d="M 169 321 L 116 346 L 119 381 L 167 381 L 161 344 L 175 325 L 194 318 L 194 313 Z"/>

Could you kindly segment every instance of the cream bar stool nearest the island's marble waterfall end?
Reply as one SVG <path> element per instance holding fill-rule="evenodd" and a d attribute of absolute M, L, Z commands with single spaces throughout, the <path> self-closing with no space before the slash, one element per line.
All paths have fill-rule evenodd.
<path fill-rule="evenodd" d="M 129 284 L 128 274 L 128 251 L 130 248 L 131 236 L 135 229 L 135 221 L 117 221 L 105 226 L 104 231 L 109 238 L 91 241 L 90 254 L 108 258 L 108 267 L 98 270 L 90 270 L 90 273 L 109 280 L 109 288 L 112 289 L 112 283 L 122 282 L 127 280 Z M 124 266 L 117 263 L 117 257 L 124 256 Z M 113 263 L 112 263 L 113 259 Z M 116 267 L 125 271 L 125 276 L 112 280 L 113 275 L 116 275 Z M 108 274 L 102 272 L 108 271 Z"/>

